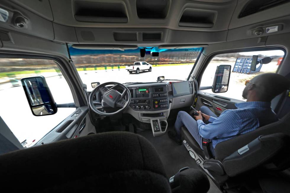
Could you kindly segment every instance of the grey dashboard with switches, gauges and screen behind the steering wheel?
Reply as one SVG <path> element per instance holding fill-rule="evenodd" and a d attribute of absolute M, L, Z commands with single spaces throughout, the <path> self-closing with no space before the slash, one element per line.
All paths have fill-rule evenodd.
<path fill-rule="evenodd" d="M 194 87 L 188 81 L 153 82 L 126 87 L 130 91 L 131 101 L 123 113 L 131 114 L 140 122 L 151 124 L 154 137 L 165 134 L 170 110 L 190 106 L 194 101 Z M 101 102 L 102 99 L 100 92 L 93 98 L 96 102 Z"/>

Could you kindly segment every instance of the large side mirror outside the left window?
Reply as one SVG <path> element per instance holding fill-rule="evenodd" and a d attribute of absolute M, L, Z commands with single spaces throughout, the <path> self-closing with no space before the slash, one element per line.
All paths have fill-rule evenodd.
<path fill-rule="evenodd" d="M 33 115 L 45 116 L 57 113 L 56 104 L 43 76 L 22 78 L 21 83 Z"/>

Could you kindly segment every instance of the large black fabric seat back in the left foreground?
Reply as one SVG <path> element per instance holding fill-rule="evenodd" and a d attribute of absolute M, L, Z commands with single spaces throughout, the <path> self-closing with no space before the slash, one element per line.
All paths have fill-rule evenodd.
<path fill-rule="evenodd" d="M 155 148 L 128 132 L 108 132 L 0 156 L 9 192 L 171 192 Z"/>

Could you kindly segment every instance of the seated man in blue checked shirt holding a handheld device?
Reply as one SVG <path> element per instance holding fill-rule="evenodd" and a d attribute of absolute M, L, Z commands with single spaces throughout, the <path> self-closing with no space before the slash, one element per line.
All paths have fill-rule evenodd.
<path fill-rule="evenodd" d="M 226 110 L 217 117 L 202 106 L 199 116 L 194 118 L 179 111 L 174 125 L 176 133 L 168 132 L 169 137 L 181 144 L 180 129 L 186 126 L 201 148 L 202 138 L 212 140 L 211 152 L 215 155 L 214 148 L 218 143 L 278 121 L 271 109 L 271 100 L 287 90 L 289 85 L 289 80 L 280 74 L 260 74 L 246 83 L 242 96 L 247 102 L 236 103 L 237 109 Z"/>

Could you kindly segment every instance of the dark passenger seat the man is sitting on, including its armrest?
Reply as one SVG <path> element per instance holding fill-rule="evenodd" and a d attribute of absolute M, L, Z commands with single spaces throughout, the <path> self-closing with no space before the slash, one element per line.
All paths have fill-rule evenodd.
<path fill-rule="evenodd" d="M 185 127 L 181 128 L 181 136 L 192 151 L 203 158 L 203 168 L 219 183 L 257 168 L 271 172 L 282 171 L 290 166 L 290 155 L 287 153 L 290 150 L 290 112 L 277 122 L 218 143 L 215 158 L 205 158 L 209 156 L 205 156 L 206 152 Z"/>

